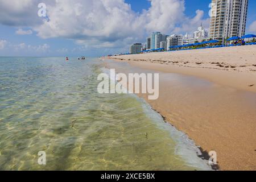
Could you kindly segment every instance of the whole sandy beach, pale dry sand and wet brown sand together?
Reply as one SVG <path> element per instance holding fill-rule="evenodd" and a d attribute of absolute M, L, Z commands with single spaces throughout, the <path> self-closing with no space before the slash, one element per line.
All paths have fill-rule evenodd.
<path fill-rule="evenodd" d="M 118 72 L 160 73 L 147 102 L 205 151 L 221 170 L 256 170 L 256 46 L 104 57 Z M 128 63 L 128 64 L 120 64 Z M 127 68 L 129 65 L 129 68 Z"/>

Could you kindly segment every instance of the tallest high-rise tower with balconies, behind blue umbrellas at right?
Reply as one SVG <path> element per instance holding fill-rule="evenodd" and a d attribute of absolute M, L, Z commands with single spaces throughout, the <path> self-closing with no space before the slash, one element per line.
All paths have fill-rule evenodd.
<path fill-rule="evenodd" d="M 212 0 L 210 38 L 222 40 L 245 35 L 248 0 Z"/>

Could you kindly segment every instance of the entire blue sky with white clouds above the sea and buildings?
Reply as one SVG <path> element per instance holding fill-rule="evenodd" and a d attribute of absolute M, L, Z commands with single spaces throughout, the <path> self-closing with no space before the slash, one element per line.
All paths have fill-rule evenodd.
<path fill-rule="evenodd" d="M 100 0 L 93 4 L 89 0 L 74 0 L 69 2 L 73 4 L 54 5 L 53 1 L 46 0 L 50 22 L 44 22 L 36 16 L 37 0 L 23 1 L 27 3 L 14 7 L 12 3 L 20 3 L 19 0 L 10 0 L 10 3 L 0 0 L 3 5 L 0 7 L 3 17 L 0 18 L 0 56 L 102 56 L 126 52 L 129 44 L 143 43 L 151 31 L 191 34 L 201 22 L 208 28 L 211 2 L 113 0 L 101 5 Z M 72 7 L 75 19 L 72 14 L 66 16 L 70 13 L 67 7 Z M 177 10 L 179 8 L 184 11 Z M 65 10 L 67 12 L 59 16 Z M 256 27 L 251 28 L 251 24 L 256 25 L 255 20 L 256 1 L 249 0 L 247 33 L 256 33 Z"/>

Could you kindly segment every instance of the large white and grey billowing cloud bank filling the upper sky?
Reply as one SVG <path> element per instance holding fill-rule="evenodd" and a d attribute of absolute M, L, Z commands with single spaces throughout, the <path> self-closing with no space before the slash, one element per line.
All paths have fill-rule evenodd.
<path fill-rule="evenodd" d="M 185 16 L 184 0 L 150 0 L 151 7 L 142 13 L 124 0 L 46 0 L 47 20 L 37 15 L 39 2 L 0 0 L 0 23 L 31 27 L 43 39 L 67 38 L 94 48 L 124 47 L 144 42 L 152 31 L 184 33 L 201 22 L 209 24 L 201 10 L 193 18 Z"/>

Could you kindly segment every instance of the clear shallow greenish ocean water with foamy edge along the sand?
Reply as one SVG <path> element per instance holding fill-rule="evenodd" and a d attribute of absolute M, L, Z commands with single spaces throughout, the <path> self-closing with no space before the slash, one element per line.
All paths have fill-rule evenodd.
<path fill-rule="evenodd" d="M 98 59 L 0 57 L 0 170 L 210 169 L 141 98 L 98 94 L 101 72 Z"/>

